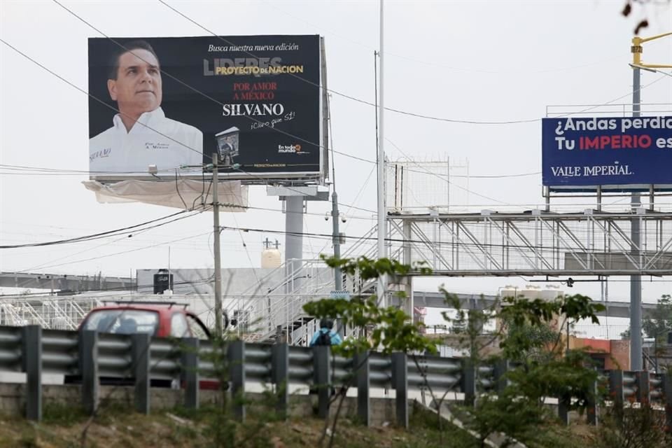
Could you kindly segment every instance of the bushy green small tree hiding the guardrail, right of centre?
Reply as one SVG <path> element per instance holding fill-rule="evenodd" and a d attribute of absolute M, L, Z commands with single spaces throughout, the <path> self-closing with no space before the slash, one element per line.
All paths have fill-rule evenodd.
<path fill-rule="evenodd" d="M 571 407 L 580 411 L 595 402 L 597 372 L 588 356 L 563 351 L 561 331 L 549 324 L 559 315 L 598 323 L 596 314 L 603 308 L 584 295 L 570 295 L 552 301 L 506 297 L 499 309 L 486 311 L 481 321 L 493 316 L 500 321 L 493 335 L 500 341 L 500 356 L 517 366 L 507 373 L 509 383 L 497 396 L 484 395 L 474 408 L 463 409 L 468 427 L 479 433 L 482 444 L 492 433 L 503 433 L 509 442 L 532 442 L 542 435 L 538 428 L 552 418 L 543 408 L 545 397 L 574 398 Z M 483 362 L 477 350 L 470 356 L 476 363 Z"/>

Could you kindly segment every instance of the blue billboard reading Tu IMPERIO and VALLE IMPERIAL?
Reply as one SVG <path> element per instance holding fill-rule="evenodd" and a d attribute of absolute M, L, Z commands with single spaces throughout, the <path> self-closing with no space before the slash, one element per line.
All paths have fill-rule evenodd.
<path fill-rule="evenodd" d="M 542 120 L 544 186 L 671 186 L 671 167 L 672 116 Z"/>

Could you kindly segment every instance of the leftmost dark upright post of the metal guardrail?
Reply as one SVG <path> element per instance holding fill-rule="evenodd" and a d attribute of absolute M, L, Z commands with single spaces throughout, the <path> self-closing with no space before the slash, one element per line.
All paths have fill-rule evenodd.
<path fill-rule="evenodd" d="M 26 418 L 42 420 L 42 327 L 26 325 L 22 329 L 24 369 L 26 372 Z"/>

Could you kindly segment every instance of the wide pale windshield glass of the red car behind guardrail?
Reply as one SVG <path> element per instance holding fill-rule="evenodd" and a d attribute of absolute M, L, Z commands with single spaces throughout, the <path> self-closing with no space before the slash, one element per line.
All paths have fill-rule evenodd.
<path fill-rule="evenodd" d="M 99 309 L 87 317 L 83 330 L 97 330 L 103 333 L 132 335 L 134 333 L 155 334 L 159 314 L 144 309 Z"/>

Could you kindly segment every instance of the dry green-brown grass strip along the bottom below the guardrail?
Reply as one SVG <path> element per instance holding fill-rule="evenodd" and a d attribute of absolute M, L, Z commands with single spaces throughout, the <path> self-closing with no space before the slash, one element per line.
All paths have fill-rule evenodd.
<path fill-rule="evenodd" d="M 251 406 L 246 423 L 233 421 L 215 407 L 155 412 L 148 416 L 123 407 L 104 408 L 87 431 L 86 447 L 318 447 L 323 421 L 312 418 L 276 419 L 271 409 Z M 177 417 L 177 418 L 176 418 Z M 45 408 L 45 419 L 31 423 L 0 415 L 0 447 L 81 447 L 81 433 L 88 417 L 76 408 Z M 342 418 L 335 435 L 335 447 L 352 448 L 476 448 L 479 443 L 465 430 L 442 424 L 437 416 L 416 405 L 410 430 L 393 425 L 367 428 L 357 419 Z M 584 428 L 585 429 L 585 428 Z M 235 434 L 235 436 L 231 436 Z M 591 433 L 592 434 L 592 433 Z M 219 435 L 219 440 L 216 440 Z M 575 428 L 548 426 L 530 448 L 589 447 L 589 438 L 577 437 Z M 326 444 L 325 444 L 326 446 Z"/>

